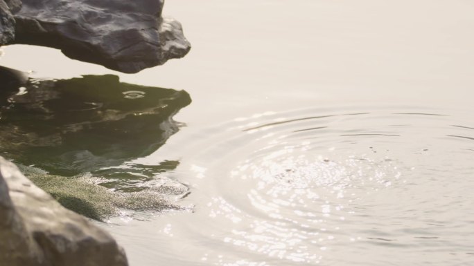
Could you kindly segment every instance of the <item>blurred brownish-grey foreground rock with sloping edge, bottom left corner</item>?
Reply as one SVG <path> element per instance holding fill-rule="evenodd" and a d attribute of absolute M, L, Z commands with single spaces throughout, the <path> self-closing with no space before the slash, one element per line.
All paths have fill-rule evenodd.
<path fill-rule="evenodd" d="M 64 209 L 1 157 L 0 217 L 0 265 L 128 265 L 109 234 Z"/>

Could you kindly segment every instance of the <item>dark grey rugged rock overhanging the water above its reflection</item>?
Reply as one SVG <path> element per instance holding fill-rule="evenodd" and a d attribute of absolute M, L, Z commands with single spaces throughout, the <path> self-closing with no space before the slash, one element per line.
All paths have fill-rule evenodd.
<path fill-rule="evenodd" d="M 2 1 L 2 0 L 0 0 Z M 23 0 L 15 42 L 49 46 L 72 59 L 124 73 L 184 57 L 181 24 L 161 17 L 164 0 Z"/>

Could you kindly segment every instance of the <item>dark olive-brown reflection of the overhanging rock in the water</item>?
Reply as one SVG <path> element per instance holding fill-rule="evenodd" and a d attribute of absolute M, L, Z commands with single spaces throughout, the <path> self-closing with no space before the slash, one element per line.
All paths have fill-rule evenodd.
<path fill-rule="evenodd" d="M 4 90 L 3 90 L 4 91 Z M 0 107 L 6 158 L 76 175 L 148 155 L 177 132 L 185 91 L 119 82 L 114 75 L 30 80 Z"/>

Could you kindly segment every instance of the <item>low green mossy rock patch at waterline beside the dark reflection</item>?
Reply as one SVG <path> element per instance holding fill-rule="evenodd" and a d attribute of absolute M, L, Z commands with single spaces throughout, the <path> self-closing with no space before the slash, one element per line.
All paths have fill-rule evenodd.
<path fill-rule="evenodd" d="M 188 209 L 175 203 L 189 193 L 188 187 L 169 178 L 155 178 L 152 187 L 123 192 L 101 186 L 100 183 L 107 180 L 90 173 L 71 178 L 49 175 L 35 167 L 20 169 L 63 207 L 94 220 L 103 221 L 128 210 L 161 212 Z"/>

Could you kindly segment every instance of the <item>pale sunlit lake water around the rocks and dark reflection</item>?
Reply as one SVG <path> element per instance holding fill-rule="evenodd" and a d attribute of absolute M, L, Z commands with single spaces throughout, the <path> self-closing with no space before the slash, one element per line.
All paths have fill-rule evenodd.
<path fill-rule="evenodd" d="M 473 12 L 465 0 L 173 0 L 164 14 L 193 44 L 184 59 L 125 75 L 11 46 L 0 64 L 191 95 L 179 131 L 130 160 L 177 162 L 155 175 L 189 187 L 188 211 L 99 223 L 132 266 L 474 265 Z"/>

